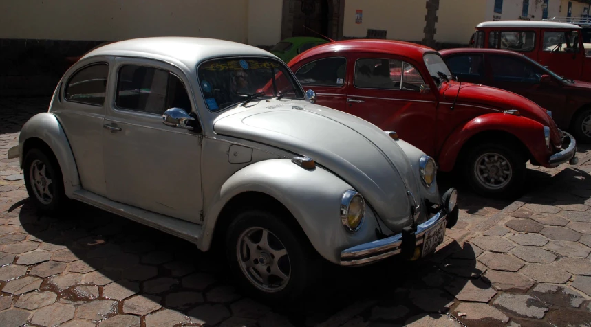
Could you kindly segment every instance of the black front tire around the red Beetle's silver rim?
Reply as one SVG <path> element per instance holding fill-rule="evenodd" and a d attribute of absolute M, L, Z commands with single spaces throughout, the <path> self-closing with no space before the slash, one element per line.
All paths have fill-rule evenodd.
<path fill-rule="evenodd" d="M 501 179 L 497 178 L 492 183 L 491 180 L 488 180 L 487 185 L 486 178 L 479 177 L 479 170 L 477 170 L 476 166 L 477 161 L 482 161 L 484 160 L 484 156 L 488 157 L 490 155 L 493 155 L 493 157 L 494 155 L 497 155 L 499 161 L 495 162 L 495 164 L 491 164 L 491 168 L 488 172 L 492 172 L 495 176 L 499 176 L 499 167 L 506 167 L 506 165 L 510 166 L 511 170 L 503 169 L 505 172 L 510 172 L 508 178 L 507 175 L 501 176 L 504 177 L 503 182 L 499 183 Z M 523 151 L 516 146 L 502 143 L 496 144 L 492 142 L 477 144 L 473 146 L 473 148 L 470 148 L 466 154 L 463 165 L 464 177 L 477 194 L 497 199 L 515 199 L 520 196 L 524 190 L 527 174 L 526 158 L 527 156 Z M 501 164 L 498 164 L 499 162 Z M 486 173 L 486 171 L 480 171 L 481 175 Z M 498 183 L 498 185 L 494 185 L 494 183 Z"/>

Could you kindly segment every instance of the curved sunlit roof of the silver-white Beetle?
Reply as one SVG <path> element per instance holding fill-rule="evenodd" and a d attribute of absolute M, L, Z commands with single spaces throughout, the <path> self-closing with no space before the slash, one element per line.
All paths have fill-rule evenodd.
<path fill-rule="evenodd" d="M 92 56 L 134 56 L 156 60 L 178 60 L 189 69 L 208 58 L 221 56 L 270 56 L 263 49 L 214 38 L 158 37 L 134 38 L 98 47 L 83 58 Z"/>

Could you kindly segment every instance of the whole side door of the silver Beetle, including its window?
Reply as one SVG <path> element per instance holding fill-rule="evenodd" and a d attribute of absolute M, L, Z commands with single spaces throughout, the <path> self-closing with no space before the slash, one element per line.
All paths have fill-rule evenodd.
<path fill-rule="evenodd" d="M 162 113 L 195 108 L 184 73 L 164 63 L 117 58 L 103 129 L 108 198 L 200 222 L 200 134 L 162 124 Z"/>

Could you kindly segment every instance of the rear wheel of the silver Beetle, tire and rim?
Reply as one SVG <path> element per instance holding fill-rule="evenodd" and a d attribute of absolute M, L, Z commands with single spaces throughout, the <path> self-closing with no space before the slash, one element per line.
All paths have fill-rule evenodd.
<path fill-rule="evenodd" d="M 63 190 L 61 170 L 54 157 L 42 150 L 29 150 L 24 159 L 25 185 L 32 203 L 44 214 L 63 210 L 67 198 Z"/>

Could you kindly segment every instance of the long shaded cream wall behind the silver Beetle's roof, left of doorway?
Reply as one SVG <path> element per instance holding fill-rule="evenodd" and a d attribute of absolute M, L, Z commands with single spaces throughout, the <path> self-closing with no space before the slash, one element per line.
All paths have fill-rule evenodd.
<path fill-rule="evenodd" d="M 202 36 L 246 42 L 248 9 L 248 0 L 5 0 L 0 38 Z"/>

